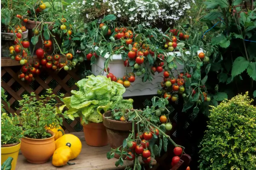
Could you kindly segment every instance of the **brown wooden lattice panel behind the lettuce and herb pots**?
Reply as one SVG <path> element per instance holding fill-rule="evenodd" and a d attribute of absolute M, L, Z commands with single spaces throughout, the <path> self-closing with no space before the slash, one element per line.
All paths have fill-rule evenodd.
<path fill-rule="evenodd" d="M 34 92 L 36 97 L 46 94 L 46 89 L 52 88 L 54 94 L 64 94 L 64 97 L 71 95 L 71 90 L 76 90 L 75 83 L 79 81 L 80 77 L 76 74 L 77 68 L 72 71 L 53 71 L 51 69 L 42 69 L 41 74 L 35 77 L 35 81 L 26 82 L 18 78 L 20 73 L 20 66 L 6 66 L 1 67 L 1 86 L 5 89 L 7 95 L 8 105 L 3 102 L 3 108 L 9 113 L 19 114 L 19 103 L 24 94 Z M 58 102 L 61 102 L 56 98 Z M 82 131 L 80 119 L 74 121 L 70 119 L 63 120 L 64 130 L 68 133 L 75 131 Z"/>

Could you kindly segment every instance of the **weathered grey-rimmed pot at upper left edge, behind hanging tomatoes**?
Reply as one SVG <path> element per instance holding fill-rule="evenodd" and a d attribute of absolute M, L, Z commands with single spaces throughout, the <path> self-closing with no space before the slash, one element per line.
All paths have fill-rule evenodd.
<path fill-rule="evenodd" d="M 28 30 L 22 33 L 23 38 L 28 37 Z M 13 33 L 1 32 L 1 58 L 9 57 L 9 47 L 14 45 L 15 36 Z"/>

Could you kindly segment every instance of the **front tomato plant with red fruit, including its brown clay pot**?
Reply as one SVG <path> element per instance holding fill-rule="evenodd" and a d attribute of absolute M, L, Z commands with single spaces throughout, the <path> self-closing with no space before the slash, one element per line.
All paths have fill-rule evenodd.
<path fill-rule="evenodd" d="M 184 147 L 176 144 L 167 131 L 172 129 L 168 119 L 169 111 L 166 108 L 167 99 L 154 97 L 152 106 L 144 111 L 138 110 L 115 110 L 103 114 L 103 123 L 107 127 L 111 151 L 107 158 L 118 158 L 115 165 L 123 165 L 126 161 L 134 161 L 134 170 L 141 170 L 141 161 L 146 166 L 152 165 L 155 156 L 163 150 L 167 151 L 168 142 L 175 146 L 172 158 L 172 166 L 180 161 Z M 114 137 L 112 136 L 114 134 Z M 144 166 L 143 164 L 143 166 Z"/>

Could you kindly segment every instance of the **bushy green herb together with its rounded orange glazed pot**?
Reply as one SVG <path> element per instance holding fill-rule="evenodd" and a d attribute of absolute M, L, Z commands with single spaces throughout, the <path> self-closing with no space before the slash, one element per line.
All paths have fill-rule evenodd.
<path fill-rule="evenodd" d="M 20 150 L 30 163 L 45 163 L 55 151 L 55 133 L 46 130 L 46 127 L 62 125 L 62 118 L 57 114 L 59 104 L 56 104 L 56 99 L 62 96 L 52 94 L 52 89 L 47 89 L 46 95 L 39 98 L 32 92 L 19 101 L 20 123 L 24 130 Z"/>

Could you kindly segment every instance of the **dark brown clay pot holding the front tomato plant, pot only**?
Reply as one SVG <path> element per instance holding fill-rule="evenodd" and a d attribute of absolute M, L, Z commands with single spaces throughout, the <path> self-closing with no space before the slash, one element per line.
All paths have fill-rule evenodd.
<path fill-rule="evenodd" d="M 127 110 L 128 111 L 128 110 Z M 131 109 L 131 111 L 134 111 Z M 106 119 L 106 117 L 112 116 L 111 111 L 105 112 L 103 115 L 103 125 L 107 129 L 108 141 L 111 148 L 116 149 L 123 144 L 124 139 L 128 138 L 132 131 L 132 122 L 120 122 L 112 119 Z M 137 126 L 135 126 L 135 133 Z M 115 158 L 119 159 L 120 156 L 115 155 Z"/>

